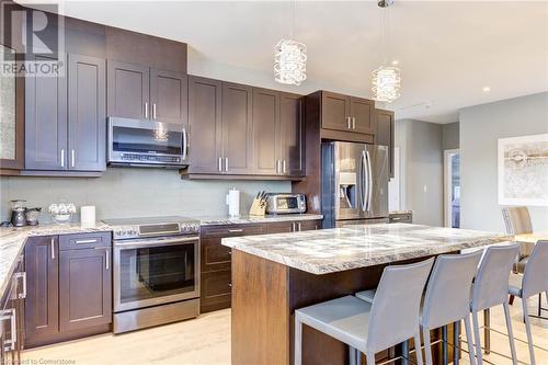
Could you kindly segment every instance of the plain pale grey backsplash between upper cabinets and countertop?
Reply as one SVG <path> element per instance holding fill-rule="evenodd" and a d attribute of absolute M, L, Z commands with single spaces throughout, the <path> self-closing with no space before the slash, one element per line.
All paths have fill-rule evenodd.
<path fill-rule="evenodd" d="M 173 170 L 110 168 L 101 178 L 0 178 L 0 218 L 9 220 L 10 201 L 26 199 L 27 207 L 43 208 L 41 221 L 49 221 L 47 207 L 65 199 L 95 205 L 96 218 L 161 215 L 226 215 L 225 195 L 241 191 L 241 213 L 247 213 L 259 190 L 290 192 L 287 181 L 184 180 Z M 76 217 L 78 219 L 78 217 Z"/>

